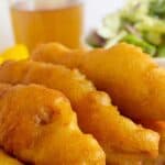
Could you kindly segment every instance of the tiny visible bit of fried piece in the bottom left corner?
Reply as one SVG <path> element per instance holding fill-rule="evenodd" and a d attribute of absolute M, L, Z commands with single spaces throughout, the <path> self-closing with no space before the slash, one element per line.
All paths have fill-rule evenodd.
<path fill-rule="evenodd" d="M 4 153 L 2 150 L 0 150 L 0 165 L 23 165 L 15 158 L 12 158 L 7 153 Z"/>

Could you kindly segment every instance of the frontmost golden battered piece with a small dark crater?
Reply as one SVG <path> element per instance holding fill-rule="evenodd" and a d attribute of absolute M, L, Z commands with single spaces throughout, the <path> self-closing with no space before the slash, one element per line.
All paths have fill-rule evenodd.
<path fill-rule="evenodd" d="M 0 145 L 26 164 L 106 164 L 98 142 L 79 130 L 67 98 L 36 85 L 0 85 Z"/>

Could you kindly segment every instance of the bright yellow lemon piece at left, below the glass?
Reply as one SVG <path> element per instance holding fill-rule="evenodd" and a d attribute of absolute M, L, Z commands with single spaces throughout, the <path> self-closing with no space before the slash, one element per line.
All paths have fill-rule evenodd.
<path fill-rule="evenodd" d="M 29 58 L 30 54 L 24 45 L 15 45 L 13 47 L 10 47 L 6 50 L 0 55 L 0 64 L 7 62 L 7 61 L 21 61 Z"/>

